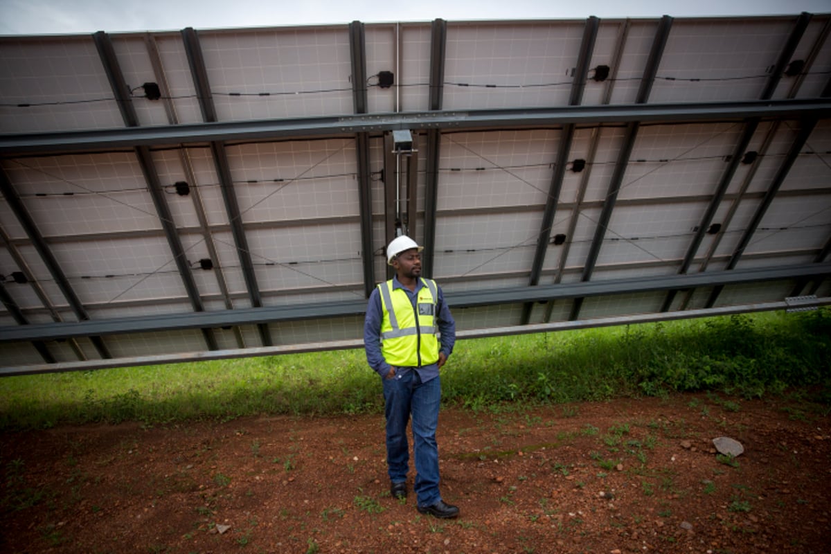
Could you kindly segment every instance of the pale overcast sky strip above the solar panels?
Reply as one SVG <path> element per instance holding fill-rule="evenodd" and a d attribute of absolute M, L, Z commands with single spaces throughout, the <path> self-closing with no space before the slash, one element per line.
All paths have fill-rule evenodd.
<path fill-rule="evenodd" d="M 313 23 L 831 12 L 831 0 L 0 0 L 0 35 Z"/>

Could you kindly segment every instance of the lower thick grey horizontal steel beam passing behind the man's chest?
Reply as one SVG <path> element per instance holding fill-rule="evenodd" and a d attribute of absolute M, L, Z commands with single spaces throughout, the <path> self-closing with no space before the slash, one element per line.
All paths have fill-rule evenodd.
<path fill-rule="evenodd" d="M 574 282 L 537 287 L 511 287 L 493 290 L 447 292 L 451 306 L 458 308 L 494 306 L 523 302 L 548 302 L 578 297 L 606 297 L 617 294 L 662 292 L 673 288 L 712 287 L 750 282 L 770 282 L 826 277 L 831 263 L 802 266 L 755 267 L 722 272 L 699 272 L 687 275 L 638 277 L 614 281 Z M 201 311 L 155 314 L 150 316 L 111 318 L 106 321 L 67 321 L 27 326 L 0 327 L 0 342 L 49 341 L 75 336 L 120 335 L 150 331 L 180 331 L 200 327 L 253 325 L 266 321 L 308 321 L 322 318 L 362 316 L 366 301 L 327 302 L 292 306 L 265 306 L 231 311 Z"/>

